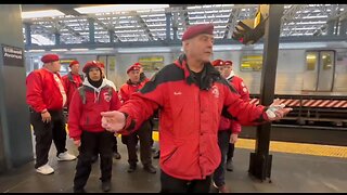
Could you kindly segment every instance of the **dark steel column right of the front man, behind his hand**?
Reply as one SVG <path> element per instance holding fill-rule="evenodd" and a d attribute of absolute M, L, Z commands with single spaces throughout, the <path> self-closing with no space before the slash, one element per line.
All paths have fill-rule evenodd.
<path fill-rule="evenodd" d="M 283 4 L 266 5 L 269 13 L 264 37 L 264 60 L 260 81 L 260 104 L 270 105 L 274 98 L 275 70 L 279 52 Z M 271 176 L 272 155 L 269 155 L 271 123 L 257 127 L 255 153 L 250 154 L 248 172 L 261 181 Z"/>

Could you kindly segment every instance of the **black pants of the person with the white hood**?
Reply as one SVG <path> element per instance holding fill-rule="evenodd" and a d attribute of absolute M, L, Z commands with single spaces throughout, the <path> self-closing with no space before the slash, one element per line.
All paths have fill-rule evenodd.
<path fill-rule="evenodd" d="M 100 169 L 102 182 L 111 181 L 112 177 L 112 146 L 114 134 L 108 131 L 88 132 L 82 131 L 81 145 L 79 147 L 78 161 L 76 166 L 76 174 L 74 179 L 74 188 L 82 188 L 91 172 L 92 156 L 98 151 L 100 154 Z"/>

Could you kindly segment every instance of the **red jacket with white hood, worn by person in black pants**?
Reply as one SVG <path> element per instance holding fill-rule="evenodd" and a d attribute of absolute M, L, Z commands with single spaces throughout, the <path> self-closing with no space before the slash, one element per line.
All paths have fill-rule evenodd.
<path fill-rule="evenodd" d="M 104 80 L 100 92 L 88 80 L 83 82 L 83 99 L 78 90 L 75 91 L 68 110 L 68 133 L 74 140 L 80 140 L 82 131 L 102 132 L 101 112 L 116 110 L 120 107 L 117 92 Z M 108 91 L 111 90 L 111 91 Z M 110 93 L 111 96 L 110 96 Z"/>

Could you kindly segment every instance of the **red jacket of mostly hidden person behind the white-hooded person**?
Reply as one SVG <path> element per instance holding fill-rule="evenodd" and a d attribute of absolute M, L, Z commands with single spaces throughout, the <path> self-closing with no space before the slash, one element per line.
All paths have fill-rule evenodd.
<path fill-rule="evenodd" d="M 66 107 L 68 108 L 74 92 L 82 84 L 83 80 L 81 75 L 73 75 L 70 72 L 67 75 L 63 76 L 62 79 L 65 84 L 65 91 L 67 95 Z"/>

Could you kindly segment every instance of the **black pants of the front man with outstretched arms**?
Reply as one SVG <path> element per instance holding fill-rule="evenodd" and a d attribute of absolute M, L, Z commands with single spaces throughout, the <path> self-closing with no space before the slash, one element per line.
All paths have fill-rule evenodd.
<path fill-rule="evenodd" d="M 209 193 L 211 177 L 205 180 L 180 180 L 160 170 L 160 193 Z"/>

